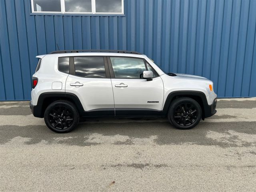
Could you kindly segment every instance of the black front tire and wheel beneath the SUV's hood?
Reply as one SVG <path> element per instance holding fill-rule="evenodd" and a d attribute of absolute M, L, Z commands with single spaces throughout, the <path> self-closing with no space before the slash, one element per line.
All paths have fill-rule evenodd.
<path fill-rule="evenodd" d="M 182 97 L 170 104 L 168 120 L 177 129 L 192 129 L 202 118 L 200 104 L 192 98 Z"/>

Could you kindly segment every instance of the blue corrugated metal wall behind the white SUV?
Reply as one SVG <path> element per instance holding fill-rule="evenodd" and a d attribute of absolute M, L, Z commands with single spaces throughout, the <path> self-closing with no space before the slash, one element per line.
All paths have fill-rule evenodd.
<path fill-rule="evenodd" d="M 40 16 L 30 0 L 0 0 L 0 100 L 29 100 L 35 56 L 56 44 L 136 50 L 210 78 L 219 97 L 256 96 L 255 10 L 256 0 L 125 0 L 125 16 Z"/>

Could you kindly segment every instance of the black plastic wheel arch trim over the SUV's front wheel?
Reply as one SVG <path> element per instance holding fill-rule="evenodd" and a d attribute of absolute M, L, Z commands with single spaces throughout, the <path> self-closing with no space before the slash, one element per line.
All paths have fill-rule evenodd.
<path fill-rule="evenodd" d="M 163 113 L 164 115 L 167 115 L 168 109 L 170 108 L 170 104 L 172 103 L 173 100 L 176 98 L 181 98 L 181 97 L 188 97 L 196 100 L 202 109 L 202 119 L 204 120 L 205 118 L 205 108 L 208 106 L 206 95 L 203 92 L 200 91 L 174 91 L 168 94 L 166 101 L 164 103 L 164 108 L 163 108 Z"/>

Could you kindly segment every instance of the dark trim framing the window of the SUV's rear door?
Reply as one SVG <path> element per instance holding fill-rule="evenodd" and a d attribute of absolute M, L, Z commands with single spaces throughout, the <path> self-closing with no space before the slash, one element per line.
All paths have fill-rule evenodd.
<path fill-rule="evenodd" d="M 76 75 L 76 70 L 75 70 L 75 64 L 74 64 L 74 57 L 102 57 L 103 61 L 104 61 L 104 68 L 105 68 L 105 75 L 106 77 L 86 77 L 86 76 L 79 76 Z M 97 56 L 97 55 L 93 55 L 93 56 L 69 56 L 69 74 L 70 75 L 74 75 L 77 77 L 82 77 L 82 78 L 97 78 L 97 79 L 108 79 L 110 78 L 110 72 L 109 72 L 109 68 L 108 68 L 108 62 L 107 62 L 107 58 L 106 56 Z"/>

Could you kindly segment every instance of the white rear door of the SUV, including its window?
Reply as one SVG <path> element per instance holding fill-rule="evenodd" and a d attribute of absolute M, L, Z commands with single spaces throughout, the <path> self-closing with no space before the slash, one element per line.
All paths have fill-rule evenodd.
<path fill-rule="evenodd" d="M 106 57 L 70 57 L 67 92 L 78 96 L 86 116 L 114 116 L 113 90 Z"/>

